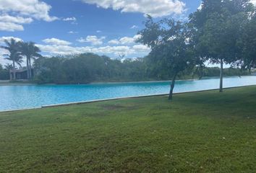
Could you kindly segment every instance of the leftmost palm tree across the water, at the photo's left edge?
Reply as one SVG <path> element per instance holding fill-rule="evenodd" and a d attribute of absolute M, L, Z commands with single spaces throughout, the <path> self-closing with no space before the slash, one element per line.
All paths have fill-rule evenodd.
<path fill-rule="evenodd" d="M 12 61 L 12 70 L 13 70 L 13 79 L 16 79 L 16 73 L 15 73 L 15 63 L 17 63 L 19 66 L 21 66 L 22 63 L 22 55 L 19 51 L 19 45 L 20 43 L 14 40 L 13 38 L 11 40 L 4 40 L 4 43 L 7 46 L 1 46 L 1 48 L 8 50 L 9 54 L 4 54 L 5 59 Z"/>

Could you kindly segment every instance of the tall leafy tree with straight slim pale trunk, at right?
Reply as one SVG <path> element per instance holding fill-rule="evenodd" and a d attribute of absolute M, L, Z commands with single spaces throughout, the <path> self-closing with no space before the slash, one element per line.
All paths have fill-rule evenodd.
<path fill-rule="evenodd" d="M 223 63 L 234 63 L 240 58 L 239 37 L 251 10 L 249 0 L 203 0 L 202 9 L 189 17 L 189 23 L 197 31 L 195 48 L 200 56 L 221 64 L 220 92 L 223 92 Z"/>

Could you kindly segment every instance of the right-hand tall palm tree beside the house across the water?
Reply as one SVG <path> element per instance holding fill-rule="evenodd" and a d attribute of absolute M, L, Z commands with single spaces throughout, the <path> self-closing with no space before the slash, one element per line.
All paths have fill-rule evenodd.
<path fill-rule="evenodd" d="M 35 46 L 35 43 L 28 42 L 28 43 L 21 43 L 20 51 L 23 56 L 27 58 L 27 78 L 31 78 L 31 59 L 40 58 L 41 55 L 40 49 Z"/>

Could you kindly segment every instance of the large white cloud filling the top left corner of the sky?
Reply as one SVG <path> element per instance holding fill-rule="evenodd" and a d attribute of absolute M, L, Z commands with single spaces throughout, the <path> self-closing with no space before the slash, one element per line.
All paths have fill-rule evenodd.
<path fill-rule="evenodd" d="M 50 5 L 38 0 L 0 0 L 0 30 L 24 30 L 22 24 L 29 24 L 33 19 L 46 22 L 58 19 L 48 14 L 50 9 Z"/>

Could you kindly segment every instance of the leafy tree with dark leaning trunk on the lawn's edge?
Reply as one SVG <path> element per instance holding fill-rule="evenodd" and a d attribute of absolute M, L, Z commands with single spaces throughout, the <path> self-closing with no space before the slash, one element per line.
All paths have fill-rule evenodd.
<path fill-rule="evenodd" d="M 168 99 L 172 99 L 176 77 L 194 64 L 193 48 L 189 44 L 189 27 L 174 19 L 153 22 L 148 16 L 145 29 L 138 32 L 137 40 L 151 48 L 149 61 L 155 68 L 161 68 L 171 75 L 171 89 Z"/>

